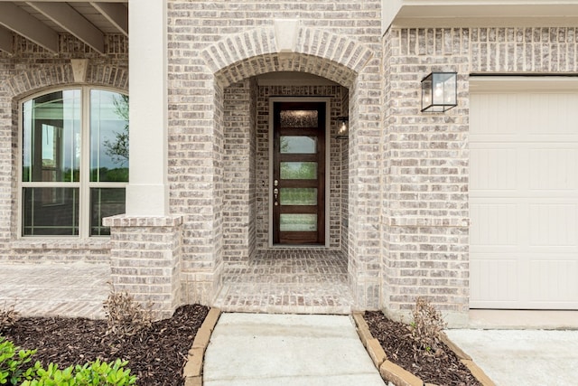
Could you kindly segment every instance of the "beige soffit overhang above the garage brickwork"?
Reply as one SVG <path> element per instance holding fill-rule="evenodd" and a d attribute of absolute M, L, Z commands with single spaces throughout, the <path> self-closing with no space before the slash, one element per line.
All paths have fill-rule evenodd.
<path fill-rule="evenodd" d="M 573 26 L 578 21 L 578 0 L 398 0 L 397 6 L 389 15 L 396 27 Z"/>

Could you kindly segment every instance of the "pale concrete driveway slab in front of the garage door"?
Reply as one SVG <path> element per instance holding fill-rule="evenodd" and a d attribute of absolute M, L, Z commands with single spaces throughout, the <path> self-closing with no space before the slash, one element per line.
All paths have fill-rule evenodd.
<path fill-rule="evenodd" d="M 578 331 L 448 330 L 499 386 L 578 384 Z"/>

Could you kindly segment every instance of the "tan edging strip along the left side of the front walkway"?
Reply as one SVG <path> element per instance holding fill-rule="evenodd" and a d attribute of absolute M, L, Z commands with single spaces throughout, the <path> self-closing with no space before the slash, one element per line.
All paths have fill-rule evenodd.
<path fill-rule="evenodd" d="M 220 309 L 210 308 L 209 314 L 200 325 L 195 339 L 192 341 L 191 350 L 187 356 L 187 363 L 182 369 L 182 378 L 184 386 L 201 386 L 202 385 L 202 363 L 205 358 L 205 351 L 210 341 L 210 334 L 215 329 L 219 321 Z"/>

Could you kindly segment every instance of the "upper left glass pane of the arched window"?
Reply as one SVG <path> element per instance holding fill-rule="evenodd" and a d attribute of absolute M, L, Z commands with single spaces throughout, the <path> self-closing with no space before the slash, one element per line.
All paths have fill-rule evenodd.
<path fill-rule="evenodd" d="M 52 92 L 23 104 L 23 181 L 78 182 L 80 90 Z"/>

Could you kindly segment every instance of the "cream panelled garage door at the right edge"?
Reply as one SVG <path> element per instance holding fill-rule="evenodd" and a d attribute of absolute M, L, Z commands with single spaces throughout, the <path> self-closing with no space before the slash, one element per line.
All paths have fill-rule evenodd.
<path fill-rule="evenodd" d="M 471 308 L 578 309 L 577 89 L 471 83 Z"/>

